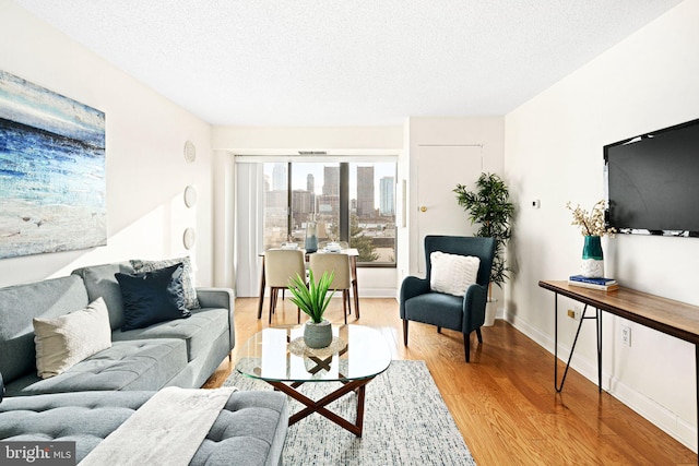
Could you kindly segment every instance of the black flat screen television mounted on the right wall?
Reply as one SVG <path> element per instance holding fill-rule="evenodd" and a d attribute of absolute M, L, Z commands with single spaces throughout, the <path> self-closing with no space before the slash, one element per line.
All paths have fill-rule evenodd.
<path fill-rule="evenodd" d="M 699 237 L 699 119 L 604 146 L 607 226 Z"/>

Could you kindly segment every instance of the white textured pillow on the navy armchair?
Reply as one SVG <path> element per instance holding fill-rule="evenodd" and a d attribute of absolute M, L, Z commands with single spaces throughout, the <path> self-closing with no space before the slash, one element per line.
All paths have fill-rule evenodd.
<path fill-rule="evenodd" d="M 449 254 L 435 251 L 429 254 L 433 291 L 464 296 L 469 286 L 476 283 L 481 259 L 473 255 Z"/>

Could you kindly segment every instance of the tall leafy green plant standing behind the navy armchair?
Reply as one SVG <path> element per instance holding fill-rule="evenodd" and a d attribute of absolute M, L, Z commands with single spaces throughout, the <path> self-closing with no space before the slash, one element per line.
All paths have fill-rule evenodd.
<path fill-rule="evenodd" d="M 459 205 L 469 213 L 471 224 L 479 225 L 474 236 L 495 238 L 495 258 L 488 284 L 488 302 L 493 303 L 493 284 L 502 288 L 512 272 L 505 263 L 505 247 L 512 235 L 510 220 L 514 214 L 514 204 L 510 202 L 507 184 L 495 174 L 481 174 L 474 191 L 457 184 L 453 192 L 457 193 Z M 488 308 L 493 308 L 493 304 Z M 495 310 L 489 309 L 486 324 L 493 325 Z"/>

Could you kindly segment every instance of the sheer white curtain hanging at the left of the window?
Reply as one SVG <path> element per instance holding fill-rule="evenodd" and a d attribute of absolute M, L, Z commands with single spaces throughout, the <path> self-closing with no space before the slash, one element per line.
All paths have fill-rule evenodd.
<path fill-rule="evenodd" d="M 236 162 L 236 295 L 258 296 L 264 249 L 262 164 Z"/>

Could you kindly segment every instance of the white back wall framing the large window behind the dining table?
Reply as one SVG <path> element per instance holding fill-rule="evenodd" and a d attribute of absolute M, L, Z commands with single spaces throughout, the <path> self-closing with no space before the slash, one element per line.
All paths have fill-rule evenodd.
<path fill-rule="evenodd" d="M 215 151 L 217 230 L 230 235 L 216 235 L 216 283 L 235 286 L 235 251 L 230 241 L 235 231 L 235 170 L 234 155 L 297 155 L 298 151 L 325 151 L 331 155 L 401 155 L 402 127 L 214 127 L 212 146 Z M 218 202 L 221 201 L 221 202 Z M 221 227 L 220 227 L 221 226 Z M 399 232 L 400 235 L 400 232 Z M 399 250 L 400 254 L 400 250 Z M 359 295 L 394 296 L 395 268 L 364 268 L 357 271 Z"/>

